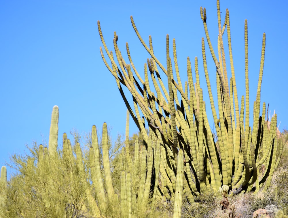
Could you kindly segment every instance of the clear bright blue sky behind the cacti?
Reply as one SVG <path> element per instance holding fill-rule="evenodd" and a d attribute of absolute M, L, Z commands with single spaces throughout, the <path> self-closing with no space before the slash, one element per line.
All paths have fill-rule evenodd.
<path fill-rule="evenodd" d="M 146 42 L 148 36 L 152 36 L 154 52 L 164 66 L 166 34 L 170 36 L 171 45 L 175 38 L 182 83 L 187 80 L 187 56 L 191 60 L 198 56 L 200 84 L 204 91 L 204 100 L 209 102 L 206 81 L 202 76 L 201 37 L 205 37 L 205 34 L 200 6 L 206 7 L 210 37 L 214 49 L 217 49 L 216 0 L 178 3 L 1 1 L 0 163 L 5 165 L 6 161 L 9 162 L 10 155 L 26 151 L 25 144 L 31 145 L 32 141 L 36 140 L 38 144 L 48 143 L 54 105 L 59 106 L 60 145 L 64 132 L 72 139 L 69 131 L 73 128 L 84 134 L 91 131 L 92 125 L 101 129 L 103 122 L 112 127 L 113 139 L 116 139 L 118 133 L 125 133 L 126 107 L 115 79 L 102 61 L 97 20 L 101 22 L 109 50 L 113 50 L 113 31 L 116 31 L 122 55 L 127 57 L 127 41 L 132 60 L 142 74 L 149 54 L 131 26 L 130 15 L 134 17 Z M 287 7 L 287 1 L 281 0 L 220 1 L 222 23 L 225 9 L 230 11 L 239 98 L 245 95 L 244 20 L 248 20 L 250 105 L 253 105 L 256 97 L 262 34 L 266 32 L 261 102 L 270 103 L 271 113 L 276 111 L 278 124 L 281 121 L 281 131 L 288 127 Z M 228 50 L 226 53 L 228 55 Z M 210 63 L 211 83 L 214 84 L 215 66 L 208 50 L 206 55 Z M 166 83 L 166 79 L 164 82 Z M 132 99 L 130 95 L 128 99 Z M 208 106 L 207 108 L 210 109 Z M 212 125 L 211 115 L 208 119 Z M 130 126 L 132 135 L 137 132 L 137 128 L 132 121 Z M 10 169 L 8 174 L 9 172 Z"/>

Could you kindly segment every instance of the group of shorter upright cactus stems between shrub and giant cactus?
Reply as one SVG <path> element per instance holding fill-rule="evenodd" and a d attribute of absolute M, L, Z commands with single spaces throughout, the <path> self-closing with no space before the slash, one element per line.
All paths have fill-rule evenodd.
<path fill-rule="evenodd" d="M 128 117 L 129 114 L 127 120 Z M 126 133 L 128 132 L 129 125 L 127 124 Z M 145 207 L 149 205 L 149 202 L 151 202 L 150 207 L 153 208 L 156 201 L 160 200 L 160 197 L 162 198 L 161 195 L 160 197 L 157 195 L 159 192 L 158 178 L 160 171 L 160 141 L 152 141 L 152 135 L 152 133 L 149 134 L 147 148 L 144 146 L 140 152 L 138 138 L 136 138 L 133 157 L 130 155 L 129 148 L 122 148 L 120 154 L 122 162 L 117 166 L 123 170 L 120 176 L 120 195 L 118 196 L 117 194 L 115 195 L 117 191 L 113 187 L 112 180 L 110 180 L 111 169 L 108 152 L 107 124 L 103 124 L 102 131 L 103 170 L 105 180 L 102 178 L 100 164 L 101 153 L 98 145 L 96 127 L 92 127 L 92 144 L 89 152 L 89 162 L 92 183 L 96 191 L 96 199 L 100 211 L 105 211 L 109 204 L 120 200 L 121 216 L 130 217 L 133 214 L 133 210 L 135 211 L 137 208 L 138 210 L 146 210 Z M 127 138 L 128 136 L 126 139 Z M 127 140 L 126 146 L 128 146 Z M 147 151 L 147 149 L 149 150 Z M 140 169 L 138 170 L 138 168 Z M 104 182 L 106 190 L 104 188 Z M 153 194 L 151 192 L 153 192 Z M 107 196 L 105 193 L 107 193 Z"/>

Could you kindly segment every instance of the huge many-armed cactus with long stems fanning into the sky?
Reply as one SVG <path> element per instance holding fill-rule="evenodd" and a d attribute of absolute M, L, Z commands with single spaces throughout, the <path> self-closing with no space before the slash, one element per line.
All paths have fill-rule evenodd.
<path fill-rule="evenodd" d="M 103 61 L 115 77 L 122 98 L 133 121 L 143 135 L 144 141 L 147 144 L 149 144 L 149 141 L 151 143 L 151 137 L 145 131 L 145 125 L 148 125 L 149 134 L 155 137 L 155 139 L 152 137 L 152 141 L 157 141 L 156 144 L 158 148 L 160 147 L 159 181 L 161 181 L 161 186 L 157 190 L 158 195 L 162 196 L 162 198 L 180 200 L 178 199 L 179 194 L 176 196 L 174 193 L 176 189 L 179 190 L 179 183 L 177 182 L 180 180 L 177 175 L 177 165 L 179 165 L 177 158 L 182 155 L 179 151 L 183 151 L 183 162 L 181 165 L 184 165 L 184 176 L 183 186 L 181 187 L 190 202 L 193 202 L 195 194 L 209 192 L 210 190 L 216 192 L 222 185 L 228 185 L 230 193 L 234 194 L 240 191 L 253 191 L 256 193 L 263 186 L 266 189 L 270 185 L 272 174 L 279 163 L 283 148 L 281 140 L 276 137 L 277 115 L 275 114 L 272 118 L 271 127 L 268 128 L 268 119 L 265 117 L 265 102 L 262 106 L 262 114 L 260 114 L 265 33 L 262 41 L 257 94 L 253 104 L 253 123 L 250 125 L 247 20 L 245 20 L 246 97 L 242 96 L 239 106 L 232 58 L 229 11 L 228 9 L 226 10 L 225 20 L 221 24 L 220 6 L 219 0 L 217 0 L 219 29 L 217 51 L 214 51 L 208 34 L 205 8 L 200 8 L 200 15 L 209 50 L 217 71 L 217 98 L 214 99 L 206 62 L 204 38 L 202 38 L 204 73 L 217 141 L 213 138 L 206 114 L 206 104 L 203 101 L 202 87 L 199 80 L 197 57 L 194 60 L 194 70 L 192 70 L 190 58 L 187 58 L 188 81 L 185 81 L 183 89 L 177 63 L 175 39 L 173 39 L 173 57 L 170 57 L 170 40 L 169 35 L 166 36 L 165 67 L 154 55 L 151 36 L 149 36 L 149 45 L 147 45 L 140 36 L 131 16 L 132 26 L 137 37 L 151 56 L 151 58 L 147 58 L 147 63 L 144 65 L 144 78 L 141 78 L 139 71 L 133 64 L 128 43 L 126 43 L 128 55 L 128 63 L 126 63 L 122 56 L 123 53 L 118 48 L 118 35 L 114 32 L 115 53 L 113 54 L 106 46 L 100 22 L 98 21 L 98 31 L 111 65 L 108 64 L 103 50 L 100 48 Z M 228 37 L 229 60 L 226 60 L 223 45 L 222 36 L 225 30 Z M 228 61 L 230 61 L 231 69 L 227 68 L 226 62 Z M 166 79 L 160 77 L 160 71 L 165 74 L 164 77 Z M 193 80 L 192 71 L 195 73 L 196 82 Z M 232 75 L 229 81 L 228 71 Z M 176 78 L 174 74 L 176 74 Z M 149 84 L 149 80 L 153 84 Z M 164 85 L 164 80 L 168 82 L 168 89 Z M 124 95 L 123 86 L 132 94 L 132 103 L 129 103 Z M 216 109 L 214 100 L 218 103 L 218 109 Z M 147 146 L 147 149 L 149 151 L 149 146 Z M 265 171 L 261 175 L 259 169 L 263 165 Z M 149 165 L 147 168 L 149 169 Z"/>

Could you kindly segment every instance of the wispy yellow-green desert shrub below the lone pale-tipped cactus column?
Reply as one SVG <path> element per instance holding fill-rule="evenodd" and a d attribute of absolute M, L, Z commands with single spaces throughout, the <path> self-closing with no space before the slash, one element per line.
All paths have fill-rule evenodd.
<path fill-rule="evenodd" d="M 12 156 L 17 173 L 8 181 L 5 217 L 85 215 L 87 175 L 72 168 L 62 151 L 50 158 L 47 148 L 36 143 L 29 150 L 31 154 Z"/>

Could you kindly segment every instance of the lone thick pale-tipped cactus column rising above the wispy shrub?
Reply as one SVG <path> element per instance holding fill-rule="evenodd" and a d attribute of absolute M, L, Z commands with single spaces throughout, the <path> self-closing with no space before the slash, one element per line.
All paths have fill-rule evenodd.
<path fill-rule="evenodd" d="M 55 105 L 52 110 L 50 133 L 49 133 L 49 146 L 48 146 L 49 154 L 52 156 L 56 156 L 57 154 L 58 120 L 59 120 L 59 108 L 58 106 Z"/>

